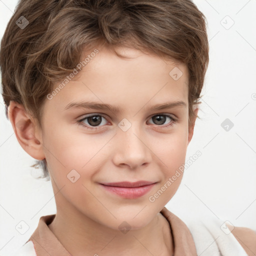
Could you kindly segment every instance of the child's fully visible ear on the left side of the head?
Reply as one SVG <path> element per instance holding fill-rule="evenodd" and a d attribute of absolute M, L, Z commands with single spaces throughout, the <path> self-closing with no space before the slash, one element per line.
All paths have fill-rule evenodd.
<path fill-rule="evenodd" d="M 8 118 L 21 147 L 33 158 L 44 159 L 40 129 L 29 117 L 24 106 L 11 100 L 8 106 Z"/>

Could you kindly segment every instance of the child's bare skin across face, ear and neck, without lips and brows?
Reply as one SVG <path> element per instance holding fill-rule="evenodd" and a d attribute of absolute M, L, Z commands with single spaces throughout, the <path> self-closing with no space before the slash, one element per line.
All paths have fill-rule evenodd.
<path fill-rule="evenodd" d="M 134 48 L 116 49 L 129 58 L 98 47 L 79 74 L 45 100 L 42 129 L 14 101 L 8 117 L 23 149 L 47 161 L 57 208 L 49 228 L 70 254 L 171 255 L 170 227 L 159 212 L 176 192 L 182 173 L 154 202 L 148 198 L 185 161 L 194 127 L 194 122 L 188 127 L 188 70 L 182 63 Z M 178 80 L 169 75 L 173 67 L 183 72 Z M 120 112 L 64 110 L 80 100 L 119 105 Z M 186 106 L 150 110 L 153 104 L 177 100 Z M 103 117 L 97 130 L 88 119 L 83 121 L 85 127 L 76 122 L 99 113 Z M 176 122 L 167 127 L 172 120 L 163 115 L 166 119 L 159 124 L 152 118 L 157 114 L 169 114 Z M 126 131 L 118 127 L 123 118 L 131 123 Z M 19 129 L 15 123 L 21 119 L 25 125 Z M 67 178 L 72 169 L 80 175 L 75 182 Z M 157 183 L 136 199 L 122 198 L 99 185 L 137 180 Z M 130 225 L 127 233 L 118 228 L 123 221 Z"/>

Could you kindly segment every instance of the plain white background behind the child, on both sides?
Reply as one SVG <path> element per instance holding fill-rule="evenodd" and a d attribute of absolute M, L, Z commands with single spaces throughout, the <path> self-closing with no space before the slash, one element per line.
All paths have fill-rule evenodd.
<path fill-rule="evenodd" d="M 0 38 L 16 3 L 0 0 Z M 207 18 L 210 62 L 186 159 L 197 150 L 202 155 L 185 170 L 166 207 L 181 219 L 200 212 L 256 230 L 256 0 L 194 3 Z M 221 127 L 226 118 L 234 124 L 229 131 Z M 32 163 L 0 97 L 1 255 L 21 247 L 40 216 L 55 213 L 51 183 L 34 178 Z M 21 220 L 29 226 L 24 234 L 15 229 Z"/>

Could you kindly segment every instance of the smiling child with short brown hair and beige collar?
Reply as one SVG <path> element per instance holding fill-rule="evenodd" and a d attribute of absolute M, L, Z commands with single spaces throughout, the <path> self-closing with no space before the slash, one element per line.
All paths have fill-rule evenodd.
<path fill-rule="evenodd" d="M 57 212 L 16 255 L 255 255 L 251 229 L 186 226 L 164 207 L 197 117 L 204 19 L 190 0 L 19 1 L 2 96 Z"/>

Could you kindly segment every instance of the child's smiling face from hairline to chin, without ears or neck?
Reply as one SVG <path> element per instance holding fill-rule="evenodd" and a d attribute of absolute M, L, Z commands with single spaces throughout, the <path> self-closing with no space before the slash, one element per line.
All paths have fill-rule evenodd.
<path fill-rule="evenodd" d="M 192 130 L 188 132 L 188 71 L 183 64 L 133 48 L 119 48 L 132 57 L 129 59 L 107 48 L 98 50 L 74 79 L 46 99 L 43 131 L 37 138 L 49 166 L 57 214 L 69 219 L 89 217 L 114 229 L 123 221 L 139 228 L 170 200 L 182 178 L 181 171 L 176 180 L 172 176 L 185 161 L 192 134 Z M 183 73 L 179 78 L 180 71 L 177 77 L 175 72 L 169 75 L 174 67 Z M 118 106 L 119 112 L 65 109 L 70 103 L 88 101 Z M 185 105 L 151 109 L 155 104 L 175 101 Z M 84 119 L 84 126 L 77 123 L 97 114 L 101 119 Z M 120 188 L 115 193 L 101 185 L 139 180 L 155 184 L 145 194 L 136 191 L 133 198 L 131 188 L 121 195 Z"/>

